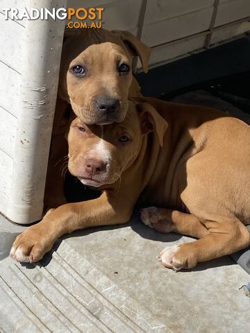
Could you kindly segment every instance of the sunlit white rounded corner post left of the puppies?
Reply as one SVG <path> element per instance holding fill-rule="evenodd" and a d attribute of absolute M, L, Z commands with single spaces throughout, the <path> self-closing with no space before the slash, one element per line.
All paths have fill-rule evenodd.
<path fill-rule="evenodd" d="M 66 0 L 28 1 L 28 8 L 52 10 L 66 6 Z M 21 110 L 8 204 L 8 218 L 16 223 L 31 223 L 42 216 L 64 28 L 64 20 L 51 18 L 28 20 L 26 24 L 20 54 Z"/>

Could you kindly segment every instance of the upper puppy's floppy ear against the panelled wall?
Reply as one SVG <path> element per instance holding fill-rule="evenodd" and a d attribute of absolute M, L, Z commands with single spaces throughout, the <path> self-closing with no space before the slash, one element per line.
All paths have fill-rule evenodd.
<path fill-rule="evenodd" d="M 142 67 L 145 73 L 149 70 L 149 58 L 151 49 L 146 44 L 142 43 L 138 37 L 135 37 L 133 33 L 122 30 L 113 30 L 113 33 L 117 33 L 121 37 L 127 48 L 131 50 L 133 56 L 139 56 L 142 62 Z"/>

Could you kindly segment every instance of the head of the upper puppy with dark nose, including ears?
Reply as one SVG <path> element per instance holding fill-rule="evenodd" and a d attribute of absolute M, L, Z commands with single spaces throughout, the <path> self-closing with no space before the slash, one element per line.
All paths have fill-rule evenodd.
<path fill-rule="evenodd" d="M 145 72 L 150 49 L 128 31 L 66 31 L 58 95 L 88 124 L 120 122 L 126 116 L 132 83 L 132 58 Z M 131 92 L 130 96 L 137 96 Z"/>

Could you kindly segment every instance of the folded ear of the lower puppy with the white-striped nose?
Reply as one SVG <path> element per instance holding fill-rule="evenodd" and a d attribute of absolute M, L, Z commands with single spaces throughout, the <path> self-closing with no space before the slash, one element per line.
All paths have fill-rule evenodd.
<path fill-rule="evenodd" d="M 160 146 L 163 146 L 163 139 L 167 130 L 168 123 L 149 103 L 138 103 L 136 105 L 139 111 L 140 126 L 142 133 L 157 133 Z"/>

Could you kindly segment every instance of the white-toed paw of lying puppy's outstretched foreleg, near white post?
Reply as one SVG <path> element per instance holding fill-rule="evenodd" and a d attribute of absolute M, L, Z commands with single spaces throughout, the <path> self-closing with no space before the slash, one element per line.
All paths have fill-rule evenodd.
<path fill-rule="evenodd" d="M 43 232 L 39 225 L 33 225 L 17 236 L 10 250 L 10 257 L 17 262 L 38 262 L 52 246 L 49 233 Z"/>

